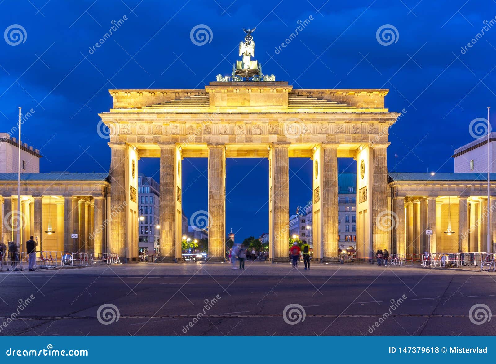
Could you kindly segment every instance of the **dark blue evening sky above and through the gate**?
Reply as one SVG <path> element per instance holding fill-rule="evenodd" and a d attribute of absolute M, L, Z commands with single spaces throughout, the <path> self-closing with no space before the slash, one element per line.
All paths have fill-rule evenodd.
<path fill-rule="evenodd" d="M 277 80 L 294 88 L 390 89 L 386 107 L 406 111 L 390 129 L 390 171 L 395 163 L 396 171 L 452 171 L 453 149 L 473 140 L 470 121 L 496 107 L 496 26 L 488 23 L 461 52 L 495 19 L 492 0 L 47 1 L 0 3 L 1 29 L 19 24 L 27 34 L 16 46 L 0 42 L 0 129 L 15 124 L 18 106 L 34 109 L 23 138 L 41 149 L 42 172 L 108 171 L 110 149 L 96 129 L 97 113 L 112 105 L 108 89 L 202 88 L 231 71 L 242 28 L 255 25 L 255 59 Z M 275 54 L 310 15 L 314 20 Z M 191 42 L 198 24 L 211 28 L 210 43 Z M 385 24 L 397 29 L 387 46 L 376 39 Z M 349 165 L 342 160 L 339 168 Z M 138 167 L 158 180 L 158 160 Z M 268 229 L 267 169 L 266 160 L 227 161 L 227 228 L 240 238 Z M 186 214 L 206 210 L 206 159 L 185 160 L 183 174 Z M 310 161 L 292 159 L 291 211 L 310 199 L 310 183 Z"/>

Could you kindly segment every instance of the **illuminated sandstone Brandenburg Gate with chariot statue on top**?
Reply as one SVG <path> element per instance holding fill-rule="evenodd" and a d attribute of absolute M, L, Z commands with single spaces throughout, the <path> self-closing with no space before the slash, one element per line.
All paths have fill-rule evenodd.
<path fill-rule="evenodd" d="M 109 90 L 114 107 L 99 115 L 111 130 L 110 203 L 117 211 L 110 226 L 112 252 L 137 256 L 137 160 L 147 157 L 160 158 L 161 260 L 182 254 L 185 157 L 208 158 L 210 261 L 223 261 L 226 253 L 226 158 L 269 160 L 272 261 L 287 261 L 289 255 L 291 157 L 313 161 L 314 259 L 338 255 L 340 157 L 357 160 L 358 256 L 389 246 L 389 229 L 379 219 L 390 213 L 386 148 L 388 129 L 400 114 L 384 108 L 388 90 L 294 89 L 261 74 L 258 62 L 250 60 L 253 49 L 246 47 L 251 41 L 248 33 L 240 44 L 243 61 L 235 63 L 232 76 L 219 75 L 202 89 Z"/>

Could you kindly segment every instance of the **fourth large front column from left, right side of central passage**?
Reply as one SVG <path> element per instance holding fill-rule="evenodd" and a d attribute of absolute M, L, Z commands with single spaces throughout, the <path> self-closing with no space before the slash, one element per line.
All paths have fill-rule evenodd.
<path fill-rule="evenodd" d="M 272 144 L 274 262 L 289 260 L 289 144 Z"/>

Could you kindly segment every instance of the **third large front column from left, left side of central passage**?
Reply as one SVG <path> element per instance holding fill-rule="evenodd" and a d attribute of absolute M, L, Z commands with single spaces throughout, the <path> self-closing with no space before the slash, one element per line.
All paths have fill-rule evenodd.
<path fill-rule="evenodd" d="M 208 258 L 226 258 L 226 147 L 208 146 Z"/>

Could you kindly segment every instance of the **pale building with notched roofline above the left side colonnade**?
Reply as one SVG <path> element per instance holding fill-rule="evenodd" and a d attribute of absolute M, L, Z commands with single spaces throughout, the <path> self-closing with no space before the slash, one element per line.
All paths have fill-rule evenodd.
<path fill-rule="evenodd" d="M 17 173 L 18 141 L 7 133 L 0 133 L 0 173 Z M 40 173 L 40 151 L 21 144 L 21 173 Z"/>

